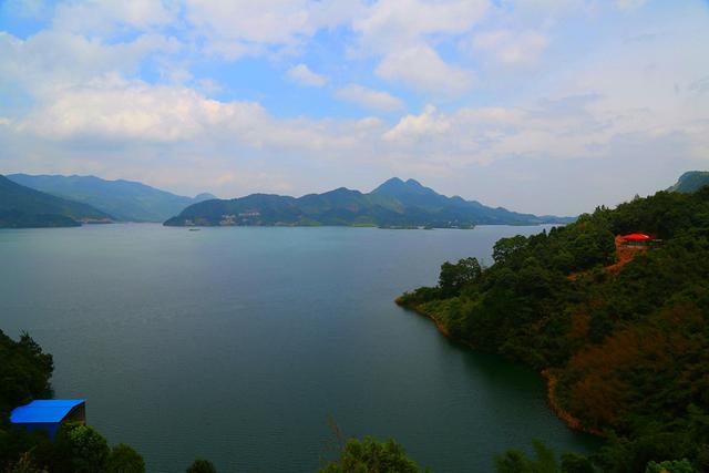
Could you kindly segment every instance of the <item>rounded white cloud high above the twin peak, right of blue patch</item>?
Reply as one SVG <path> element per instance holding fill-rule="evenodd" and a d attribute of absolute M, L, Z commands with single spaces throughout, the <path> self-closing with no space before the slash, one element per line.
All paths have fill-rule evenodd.
<path fill-rule="evenodd" d="M 445 63 L 432 48 L 423 44 L 387 55 L 374 73 L 439 95 L 459 94 L 473 83 L 472 72 Z"/>

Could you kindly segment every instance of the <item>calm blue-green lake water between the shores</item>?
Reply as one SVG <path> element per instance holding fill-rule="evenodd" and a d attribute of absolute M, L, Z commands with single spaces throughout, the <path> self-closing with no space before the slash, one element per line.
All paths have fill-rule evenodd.
<path fill-rule="evenodd" d="M 433 472 L 594 441 L 547 409 L 532 371 L 473 353 L 393 304 L 444 260 L 491 261 L 474 230 L 0 230 L 0 328 L 53 353 L 59 398 L 138 450 L 148 472 L 197 456 L 225 472 L 312 472 L 348 436 L 393 436 Z"/>

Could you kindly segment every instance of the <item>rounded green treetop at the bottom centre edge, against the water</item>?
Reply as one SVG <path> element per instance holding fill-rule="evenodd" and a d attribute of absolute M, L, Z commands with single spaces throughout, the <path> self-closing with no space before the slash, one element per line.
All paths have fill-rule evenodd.
<path fill-rule="evenodd" d="M 340 459 L 330 462 L 320 473 L 419 473 L 421 470 L 399 443 L 389 439 L 379 442 L 371 436 L 350 439 Z"/>

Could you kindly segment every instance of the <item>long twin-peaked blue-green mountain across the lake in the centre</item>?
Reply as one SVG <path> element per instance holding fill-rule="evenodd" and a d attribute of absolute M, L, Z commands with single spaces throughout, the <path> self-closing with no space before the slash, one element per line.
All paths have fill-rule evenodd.
<path fill-rule="evenodd" d="M 536 225 L 573 218 L 518 214 L 446 197 L 413 179 L 391 178 L 369 194 L 345 187 L 299 198 L 251 194 L 230 200 L 191 205 L 165 222 L 167 226 L 352 225 L 383 227 L 466 228 L 477 224 Z"/>

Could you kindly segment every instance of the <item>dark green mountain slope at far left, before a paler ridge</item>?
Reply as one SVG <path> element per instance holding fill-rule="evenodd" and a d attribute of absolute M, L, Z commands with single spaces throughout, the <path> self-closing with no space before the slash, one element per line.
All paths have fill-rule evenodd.
<path fill-rule="evenodd" d="M 0 175 L 0 228 L 75 227 L 82 220 L 111 220 L 90 205 L 17 184 Z"/>

